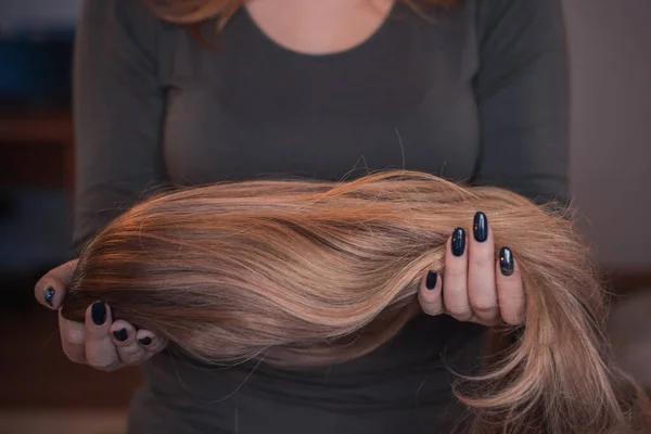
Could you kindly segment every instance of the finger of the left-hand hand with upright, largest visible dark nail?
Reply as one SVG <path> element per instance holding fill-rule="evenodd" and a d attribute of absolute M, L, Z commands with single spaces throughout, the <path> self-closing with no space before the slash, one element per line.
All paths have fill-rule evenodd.
<path fill-rule="evenodd" d="M 111 309 L 95 302 L 86 309 L 86 360 L 101 371 L 113 371 L 120 366 L 117 348 L 111 339 Z"/>

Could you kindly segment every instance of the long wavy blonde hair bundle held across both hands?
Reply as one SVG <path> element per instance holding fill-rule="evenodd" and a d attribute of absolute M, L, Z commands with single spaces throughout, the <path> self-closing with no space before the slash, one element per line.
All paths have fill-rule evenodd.
<path fill-rule="evenodd" d="M 526 323 L 459 399 L 470 433 L 649 432 L 648 399 L 613 362 L 605 294 L 571 219 L 497 188 L 395 171 L 349 182 L 247 181 L 148 200 L 84 250 L 63 315 L 115 318 L 208 362 L 343 362 L 420 311 L 452 230 L 483 210 L 519 261 Z M 515 333 L 516 343 L 505 344 Z"/>

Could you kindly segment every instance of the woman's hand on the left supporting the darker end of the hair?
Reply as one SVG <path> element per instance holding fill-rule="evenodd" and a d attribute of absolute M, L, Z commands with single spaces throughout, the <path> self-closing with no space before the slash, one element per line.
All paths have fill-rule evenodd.
<path fill-rule="evenodd" d="M 50 270 L 34 289 L 36 299 L 52 310 L 59 309 L 76 267 L 77 260 L 71 260 Z M 148 330 L 137 331 L 126 321 L 113 321 L 111 308 L 100 301 L 88 307 L 84 323 L 63 318 L 60 310 L 59 328 L 65 355 L 102 371 L 141 363 L 166 345 Z"/>

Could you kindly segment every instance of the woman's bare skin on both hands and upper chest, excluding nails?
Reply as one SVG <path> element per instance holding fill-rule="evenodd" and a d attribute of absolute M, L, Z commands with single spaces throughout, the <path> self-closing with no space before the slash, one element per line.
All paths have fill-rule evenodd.
<path fill-rule="evenodd" d="M 349 50 L 369 39 L 382 25 L 392 0 L 251 0 L 247 11 L 267 37 L 279 46 L 304 54 L 329 54 Z M 464 228 L 467 247 L 463 255 L 451 254 L 448 240 L 445 273 L 436 285 L 426 288 L 422 279 L 419 301 L 427 315 L 450 315 L 459 321 L 484 326 L 500 322 L 520 324 L 524 321 L 525 294 L 522 278 L 514 261 L 514 272 L 505 276 L 495 261 L 495 243 L 490 228 L 488 239 L 478 242 L 472 237 L 472 222 Z M 59 310 L 65 301 L 66 288 L 76 260 L 56 267 L 36 284 L 35 296 L 47 308 Z M 46 291 L 54 290 L 51 304 Z M 66 356 L 75 362 L 102 371 L 114 371 L 128 365 L 139 365 L 161 352 L 165 340 L 148 330 L 135 330 L 126 321 L 113 320 L 107 306 L 106 320 L 94 324 L 90 306 L 84 323 L 59 316 L 61 343 Z M 124 332 L 123 332 L 124 330 Z M 126 333 L 126 340 L 116 336 Z M 151 342 L 146 343 L 149 337 Z"/>

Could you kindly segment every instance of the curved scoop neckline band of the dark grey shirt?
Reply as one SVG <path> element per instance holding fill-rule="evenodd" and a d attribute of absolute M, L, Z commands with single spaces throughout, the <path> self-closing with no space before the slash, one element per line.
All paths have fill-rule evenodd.
<path fill-rule="evenodd" d="M 281 52 L 285 55 L 293 56 L 293 58 L 309 59 L 309 60 L 329 60 L 329 59 L 346 58 L 349 55 L 355 55 L 357 52 L 365 50 L 369 46 L 372 46 L 378 39 L 380 39 L 387 31 L 390 23 L 398 9 L 398 3 L 399 2 L 397 0 L 394 0 L 391 9 L 388 10 L 388 13 L 384 17 L 384 20 L 382 21 L 380 26 L 378 26 L 378 28 L 373 33 L 371 33 L 366 39 L 361 40 L 359 43 L 357 43 L 348 49 L 341 50 L 341 51 L 327 52 L 327 53 L 307 53 L 307 52 L 292 50 L 291 48 L 283 46 L 282 43 L 278 42 L 277 40 L 271 38 L 269 35 L 267 35 L 267 33 L 265 30 L 263 30 L 260 28 L 260 26 L 257 25 L 255 20 L 253 20 L 253 16 L 251 16 L 251 13 L 248 12 L 248 9 L 245 5 L 243 5 L 241 8 L 241 12 L 244 15 L 244 18 L 246 20 L 247 25 L 254 28 L 257 37 L 259 39 L 261 39 L 264 43 L 266 43 L 267 46 L 270 46 L 273 50 Z"/>

